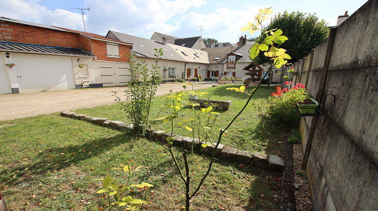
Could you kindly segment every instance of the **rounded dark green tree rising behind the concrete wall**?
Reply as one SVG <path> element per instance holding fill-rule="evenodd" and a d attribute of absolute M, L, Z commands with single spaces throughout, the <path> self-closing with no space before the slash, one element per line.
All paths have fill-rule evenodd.
<path fill-rule="evenodd" d="M 311 53 L 311 49 L 320 45 L 329 34 L 329 28 L 324 20 L 319 21 L 315 14 L 285 11 L 279 13 L 265 27 L 261 35 L 256 39 L 257 43 L 262 43 L 267 37 L 267 33 L 272 29 L 281 29 L 283 34 L 289 35 L 290 40 L 282 43 L 280 48 L 287 50 L 287 54 L 291 56 L 289 62 L 294 63 Z M 260 53 L 254 59 L 258 64 L 264 64 L 269 58 Z"/>

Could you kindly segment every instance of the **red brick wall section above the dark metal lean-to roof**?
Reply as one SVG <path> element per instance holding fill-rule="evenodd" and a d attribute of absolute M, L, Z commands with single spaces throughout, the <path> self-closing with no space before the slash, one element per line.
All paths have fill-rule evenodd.
<path fill-rule="evenodd" d="M 79 34 L 0 21 L 0 40 L 80 48 Z"/>

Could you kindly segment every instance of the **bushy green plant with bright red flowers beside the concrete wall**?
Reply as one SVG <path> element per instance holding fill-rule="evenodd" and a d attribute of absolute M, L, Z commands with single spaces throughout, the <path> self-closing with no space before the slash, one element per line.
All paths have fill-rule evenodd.
<path fill-rule="evenodd" d="M 286 81 L 285 85 L 293 85 L 293 82 Z M 277 86 L 276 92 L 263 103 L 261 108 L 263 114 L 269 117 L 277 118 L 277 120 L 285 124 L 295 124 L 298 119 L 295 104 L 305 100 L 308 95 L 304 84 L 297 83 L 291 88 L 282 88 Z"/>

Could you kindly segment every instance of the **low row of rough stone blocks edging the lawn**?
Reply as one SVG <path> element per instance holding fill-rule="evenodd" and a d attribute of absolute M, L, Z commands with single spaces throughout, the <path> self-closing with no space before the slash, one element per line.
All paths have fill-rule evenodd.
<path fill-rule="evenodd" d="M 132 129 L 134 127 L 134 125 L 132 124 L 127 124 L 120 121 L 112 121 L 112 120 L 109 120 L 108 118 L 89 117 L 89 116 L 77 114 L 71 111 L 61 112 L 60 116 L 75 118 L 79 120 L 86 120 L 91 123 L 102 125 L 104 127 L 112 127 L 112 128 L 117 128 L 120 130 Z M 170 136 L 170 133 L 165 133 L 165 131 L 160 131 L 160 130 L 153 130 L 153 131 L 147 130 L 146 132 L 150 138 L 153 138 L 155 136 L 157 140 L 160 140 L 163 142 L 166 142 L 166 138 Z M 201 147 L 201 144 L 205 144 L 205 143 L 201 143 L 200 140 L 193 139 L 190 137 L 182 137 L 179 135 L 175 135 L 173 136 L 172 140 L 174 141 L 173 142 L 174 145 L 179 144 L 179 145 L 186 146 L 188 148 L 192 148 L 192 145 L 193 145 L 194 148 L 199 148 L 203 152 L 212 153 L 214 152 L 214 149 L 215 149 L 215 146 L 209 143 L 207 143 L 208 146 L 206 148 Z M 278 156 L 266 155 L 259 152 L 253 153 L 249 151 L 238 150 L 235 148 L 226 147 L 223 144 L 218 145 L 218 148 L 216 149 L 216 152 L 215 152 L 215 156 L 217 158 L 223 158 L 229 161 L 236 161 L 246 166 L 253 165 L 253 166 L 260 166 L 263 168 L 269 167 L 269 169 L 275 170 L 275 171 L 283 170 L 285 167 L 282 158 Z"/>

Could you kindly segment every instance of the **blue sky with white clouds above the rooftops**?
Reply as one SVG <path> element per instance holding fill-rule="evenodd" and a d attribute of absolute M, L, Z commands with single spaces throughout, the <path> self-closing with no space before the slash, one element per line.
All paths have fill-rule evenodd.
<path fill-rule="evenodd" d="M 213 38 L 236 43 L 240 36 L 257 37 L 239 29 L 254 22 L 261 8 L 316 13 L 328 26 L 352 15 L 366 0 L 225 1 L 225 0 L 0 0 L 0 16 L 106 36 L 108 30 L 150 39 L 154 32 L 186 38 Z M 202 28 L 201 28 L 202 26 Z M 201 31 L 202 29 L 202 31 Z M 202 33 L 202 34 L 201 34 Z"/>

